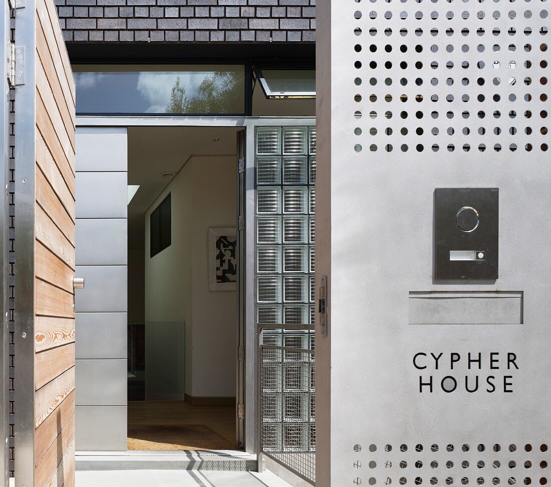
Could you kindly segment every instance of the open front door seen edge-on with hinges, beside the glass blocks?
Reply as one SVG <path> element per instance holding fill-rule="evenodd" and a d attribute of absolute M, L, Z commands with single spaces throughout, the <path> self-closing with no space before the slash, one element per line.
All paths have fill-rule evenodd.
<path fill-rule="evenodd" d="M 237 132 L 237 377 L 236 439 L 245 446 L 245 129 Z"/>

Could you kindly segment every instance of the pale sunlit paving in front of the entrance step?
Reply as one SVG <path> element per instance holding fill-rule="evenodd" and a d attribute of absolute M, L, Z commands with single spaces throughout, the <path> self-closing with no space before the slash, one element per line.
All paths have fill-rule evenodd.
<path fill-rule="evenodd" d="M 290 487 L 270 472 L 92 470 L 76 475 L 76 487 Z"/>

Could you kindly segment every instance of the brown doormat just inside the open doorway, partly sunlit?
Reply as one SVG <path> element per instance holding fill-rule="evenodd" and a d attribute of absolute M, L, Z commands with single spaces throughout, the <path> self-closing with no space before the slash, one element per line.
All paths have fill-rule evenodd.
<path fill-rule="evenodd" d="M 128 450 L 235 450 L 236 446 L 202 424 L 128 425 Z"/>

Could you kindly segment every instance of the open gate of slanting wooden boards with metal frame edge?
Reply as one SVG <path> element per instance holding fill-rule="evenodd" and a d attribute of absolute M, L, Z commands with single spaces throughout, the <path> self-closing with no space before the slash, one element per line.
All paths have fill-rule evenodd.
<path fill-rule="evenodd" d="M 74 80 L 53 0 L 26 1 L 14 17 L 14 485 L 68 487 L 75 419 Z"/>

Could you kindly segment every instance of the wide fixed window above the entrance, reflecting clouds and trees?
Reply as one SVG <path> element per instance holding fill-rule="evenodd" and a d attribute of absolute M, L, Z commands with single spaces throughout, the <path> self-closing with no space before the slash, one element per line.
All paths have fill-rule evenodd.
<path fill-rule="evenodd" d="M 243 65 L 73 64 L 77 113 L 244 115 Z"/>

